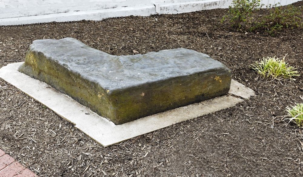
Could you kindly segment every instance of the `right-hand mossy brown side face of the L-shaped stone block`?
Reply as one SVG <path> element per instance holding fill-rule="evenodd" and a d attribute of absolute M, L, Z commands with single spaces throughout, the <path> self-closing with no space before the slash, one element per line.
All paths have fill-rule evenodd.
<path fill-rule="evenodd" d="M 175 77 L 113 92 L 111 100 L 117 108 L 115 121 L 126 123 L 225 95 L 229 91 L 230 82 L 228 71 L 221 70 Z"/>

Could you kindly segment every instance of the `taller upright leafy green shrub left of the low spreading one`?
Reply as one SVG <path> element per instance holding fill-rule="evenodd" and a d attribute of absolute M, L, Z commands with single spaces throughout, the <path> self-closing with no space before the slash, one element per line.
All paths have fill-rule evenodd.
<path fill-rule="evenodd" d="M 260 0 L 233 0 L 228 13 L 221 22 L 227 20 L 231 27 L 239 30 L 250 20 L 253 10 L 260 8 Z"/>

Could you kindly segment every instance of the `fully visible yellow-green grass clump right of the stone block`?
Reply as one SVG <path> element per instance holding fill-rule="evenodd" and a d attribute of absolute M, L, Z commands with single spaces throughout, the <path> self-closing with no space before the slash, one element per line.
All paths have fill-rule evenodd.
<path fill-rule="evenodd" d="M 285 57 L 264 57 L 261 62 L 251 64 L 250 67 L 258 74 L 260 74 L 263 78 L 296 80 L 293 77 L 300 76 L 296 68 L 288 66 L 288 64 L 285 63 Z"/>

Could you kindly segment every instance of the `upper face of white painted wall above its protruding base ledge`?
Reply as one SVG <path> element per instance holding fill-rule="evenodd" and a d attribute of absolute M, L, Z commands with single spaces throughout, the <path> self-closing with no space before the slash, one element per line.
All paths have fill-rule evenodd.
<path fill-rule="evenodd" d="M 5 5 L 5 8 L 0 8 L 0 18 L 151 4 L 150 0 L 0 0 L 0 2 L 1 1 Z"/>

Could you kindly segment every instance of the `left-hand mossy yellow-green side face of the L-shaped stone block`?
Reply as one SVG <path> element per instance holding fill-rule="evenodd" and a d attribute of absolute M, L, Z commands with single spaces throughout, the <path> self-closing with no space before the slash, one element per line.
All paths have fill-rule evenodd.
<path fill-rule="evenodd" d="M 92 80 L 49 60 L 41 52 L 28 51 L 25 63 L 18 70 L 51 85 L 100 116 L 111 118 L 115 115 L 106 90 Z"/>

